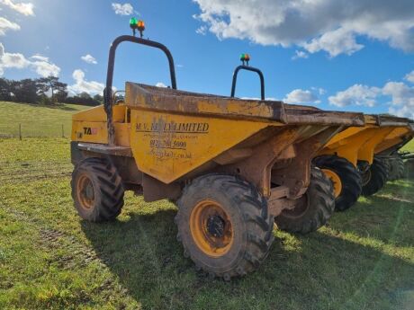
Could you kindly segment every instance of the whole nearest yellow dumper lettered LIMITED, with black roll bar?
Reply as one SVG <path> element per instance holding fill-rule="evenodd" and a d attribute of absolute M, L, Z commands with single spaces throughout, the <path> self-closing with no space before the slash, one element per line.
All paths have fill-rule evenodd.
<path fill-rule="evenodd" d="M 124 41 L 164 51 L 171 88 L 127 82 L 124 103 L 114 104 L 115 51 Z M 148 202 L 170 199 L 184 256 L 226 280 L 257 269 L 283 211 L 299 218 L 289 225 L 302 233 L 329 219 L 332 182 L 311 160 L 340 130 L 363 126 L 362 114 L 178 91 L 168 49 L 132 36 L 115 40 L 109 59 L 104 106 L 73 116 L 80 217 L 114 219 L 125 190 Z"/>

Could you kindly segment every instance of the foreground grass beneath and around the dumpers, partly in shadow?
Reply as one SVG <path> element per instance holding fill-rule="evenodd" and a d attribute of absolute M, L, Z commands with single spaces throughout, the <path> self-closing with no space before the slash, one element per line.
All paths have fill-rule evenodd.
<path fill-rule="evenodd" d="M 260 269 L 226 283 L 184 259 L 166 201 L 128 193 L 115 222 L 81 220 L 71 169 L 66 139 L 0 140 L 1 309 L 412 309 L 412 181 L 311 235 L 275 231 Z"/>

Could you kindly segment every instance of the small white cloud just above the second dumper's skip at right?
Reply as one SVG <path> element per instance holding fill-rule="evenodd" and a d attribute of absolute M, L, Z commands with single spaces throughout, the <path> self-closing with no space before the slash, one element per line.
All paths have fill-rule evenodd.
<path fill-rule="evenodd" d="M 338 92 L 335 96 L 330 96 L 329 103 L 337 107 L 347 107 L 349 105 L 374 107 L 376 97 L 380 93 L 380 88 L 355 84 L 343 92 Z"/>

